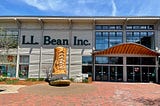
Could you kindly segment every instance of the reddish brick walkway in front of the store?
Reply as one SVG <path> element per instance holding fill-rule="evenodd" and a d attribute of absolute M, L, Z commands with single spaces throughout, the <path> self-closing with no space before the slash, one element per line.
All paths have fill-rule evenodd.
<path fill-rule="evenodd" d="M 72 83 L 26 86 L 0 94 L 0 106 L 160 106 L 160 85 L 152 83 Z"/>

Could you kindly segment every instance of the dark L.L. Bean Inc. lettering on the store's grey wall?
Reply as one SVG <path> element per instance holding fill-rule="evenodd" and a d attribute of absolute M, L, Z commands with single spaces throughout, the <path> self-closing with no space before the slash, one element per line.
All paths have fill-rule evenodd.
<path fill-rule="evenodd" d="M 70 41 L 66 38 L 52 38 L 51 36 L 43 36 L 43 41 L 37 41 L 36 36 L 30 35 L 22 35 L 21 37 L 21 45 L 39 45 L 42 43 L 42 45 L 63 45 L 67 46 L 69 45 Z M 72 45 L 75 46 L 90 46 L 91 42 L 87 38 L 78 38 L 77 36 L 73 36 L 72 38 Z"/>

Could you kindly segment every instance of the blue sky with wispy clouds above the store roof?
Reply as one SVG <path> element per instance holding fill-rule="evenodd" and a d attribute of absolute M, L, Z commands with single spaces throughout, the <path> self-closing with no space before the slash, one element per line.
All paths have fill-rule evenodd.
<path fill-rule="evenodd" d="M 0 16 L 160 16 L 160 0 L 0 0 Z"/>

